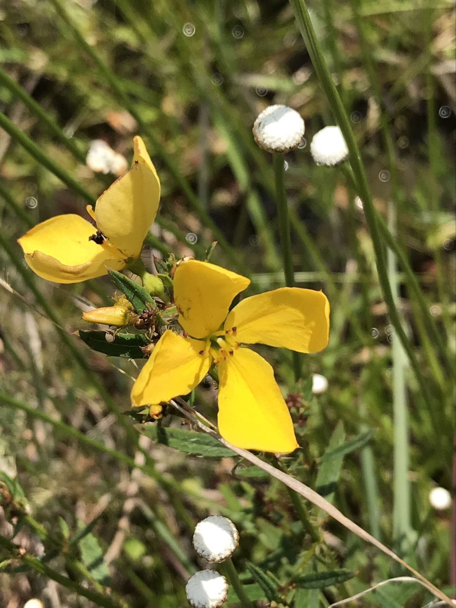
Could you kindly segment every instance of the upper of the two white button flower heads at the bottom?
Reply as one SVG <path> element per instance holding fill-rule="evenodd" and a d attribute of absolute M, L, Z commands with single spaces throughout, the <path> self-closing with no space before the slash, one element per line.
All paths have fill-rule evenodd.
<path fill-rule="evenodd" d="M 239 544 L 239 533 L 227 517 L 211 515 L 196 524 L 193 547 L 208 562 L 223 562 Z"/>

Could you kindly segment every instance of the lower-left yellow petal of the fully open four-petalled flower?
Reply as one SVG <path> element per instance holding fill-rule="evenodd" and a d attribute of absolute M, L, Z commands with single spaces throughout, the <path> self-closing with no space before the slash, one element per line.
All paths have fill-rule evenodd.
<path fill-rule="evenodd" d="M 131 389 L 131 404 L 157 404 L 190 393 L 210 366 L 210 356 L 199 354 L 198 349 L 204 349 L 204 342 L 190 342 L 165 331 Z"/>

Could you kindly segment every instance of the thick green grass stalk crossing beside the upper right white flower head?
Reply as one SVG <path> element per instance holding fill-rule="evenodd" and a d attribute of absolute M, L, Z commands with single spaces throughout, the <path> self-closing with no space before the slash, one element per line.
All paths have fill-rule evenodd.
<path fill-rule="evenodd" d="M 342 134 L 344 135 L 345 142 L 349 150 L 350 164 L 353 168 L 353 173 L 356 179 L 359 195 L 364 204 L 364 213 L 367 221 L 367 225 L 370 231 L 373 249 L 375 252 L 376 266 L 379 275 L 379 282 L 384 295 L 385 303 L 387 305 L 390 320 L 402 342 L 404 349 L 406 350 L 407 356 L 410 359 L 410 364 L 415 372 L 416 380 L 420 385 L 421 393 L 424 400 L 426 401 L 427 407 L 434 407 L 434 400 L 430 395 L 426 381 L 421 375 L 420 364 L 416 359 L 415 353 L 413 352 L 412 345 L 404 332 L 401 319 L 395 306 L 391 286 L 388 279 L 387 267 L 385 264 L 385 257 L 382 247 L 381 234 L 378 229 L 378 223 L 376 221 L 375 207 L 370 194 L 370 189 L 367 181 L 367 174 L 365 172 L 364 164 L 359 153 L 358 144 L 354 138 L 353 131 L 351 130 L 350 122 L 345 112 L 344 106 L 340 100 L 336 86 L 334 85 L 333 79 L 331 78 L 330 71 L 326 65 L 325 58 L 323 57 L 322 50 L 320 48 L 319 41 L 314 32 L 313 25 L 303 0 L 290 0 L 292 9 L 296 21 L 299 25 L 300 32 L 303 40 L 306 44 L 309 56 L 313 63 L 317 77 L 320 81 L 320 85 L 325 91 L 326 97 L 333 111 L 336 122 L 338 123 Z"/>

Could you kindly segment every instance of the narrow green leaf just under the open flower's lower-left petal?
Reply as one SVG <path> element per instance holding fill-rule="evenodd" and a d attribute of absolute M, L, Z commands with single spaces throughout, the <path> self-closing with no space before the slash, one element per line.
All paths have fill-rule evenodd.
<path fill-rule="evenodd" d="M 226 458 L 235 452 L 223 446 L 215 437 L 195 430 L 172 429 L 163 426 L 137 426 L 140 433 L 165 446 L 174 447 L 187 454 Z"/>

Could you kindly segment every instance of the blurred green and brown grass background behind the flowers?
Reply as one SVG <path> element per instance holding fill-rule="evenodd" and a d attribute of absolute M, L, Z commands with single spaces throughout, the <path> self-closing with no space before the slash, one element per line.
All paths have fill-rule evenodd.
<path fill-rule="evenodd" d="M 454 6 L 323 0 L 309 8 L 375 206 L 397 233 L 454 362 Z M 82 310 L 109 302 L 111 284 L 45 282 L 28 271 L 15 242 L 50 216 L 86 216 L 86 202 L 116 177 L 85 164 L 89 145 L 105 140 L 130 163 L 140 134 L 162 182 L 145 263 L 171 250 L 201 258 L 217 240 L 211 261 L 252 275 L 250 292 L 283 285 L 271 159 L 251 128 L 267 105 L 285 103 L 306 122 L 305 140 L 286 155 L 295 279 L 323 289 L 332 309 L 330 345 L 304 358 L 299 387 L 289 353 L 261 348 L 297 405 L 303 449 L 285 466 L 454 593 L 451 510 L 429 502 L 432 488 L 452 489 L 452 366 L 435 354 L 394 263 L 390 280 L 398 282 L 432 407 L 402 351 L 393 356 L 362 202 L 339 168 L 316 167 L 309 154 L 313 134 L 334 119 L 288 2 L 9 0 L 0 4 L 0 40 L 0 471 L 17 475 L 29 502 L 29 518 L 16 531 L 15 518 L 0 508 L 0 534 L 17 532 L 15 542 L 38 558 L 54 551 L 46 561 L 53 572 L 133 608 L 187 606 L 185 581 L 202 567 L 193 527 L 207 514 L 229 516 L 240 530 L 235 563 L 252 599 L 264 598 L 258 606 L 274 598 L 261 595 L 246 560 L 276 578 L 276 599 L 296 608 L 328 606 L 402 573 L 308 505 L 324 530 L 313 542 L 286 489 L 255 471 L 232 472 L 232 458 L 139 439 L 124 413 L 136 367 L 71 336 L 84 328 Z M 328 379 L 320 395 L 310 389 L 313 373 Z M 195 401 L 212 420 L 214 396 L 208 382 Z M 395 439 L 393 401 L 409 413 L 406 444 Z M 341 445 L 323 466 L 328 446 Z M 410 509 L 407 483 L 393 485 L 401 457 Z M 1 559 L 0 551 L 0 569 L 10 568 L 0 570 L 1 608 L 22 608 L 33 597 L 46 608 L 105 605 Z M 287 586 L 295 573 L 340 568 L 353 578 L 322 590 Z M 353 606 L 412 608 L 431 599 L 415 584 L 393 583 Z"/>

